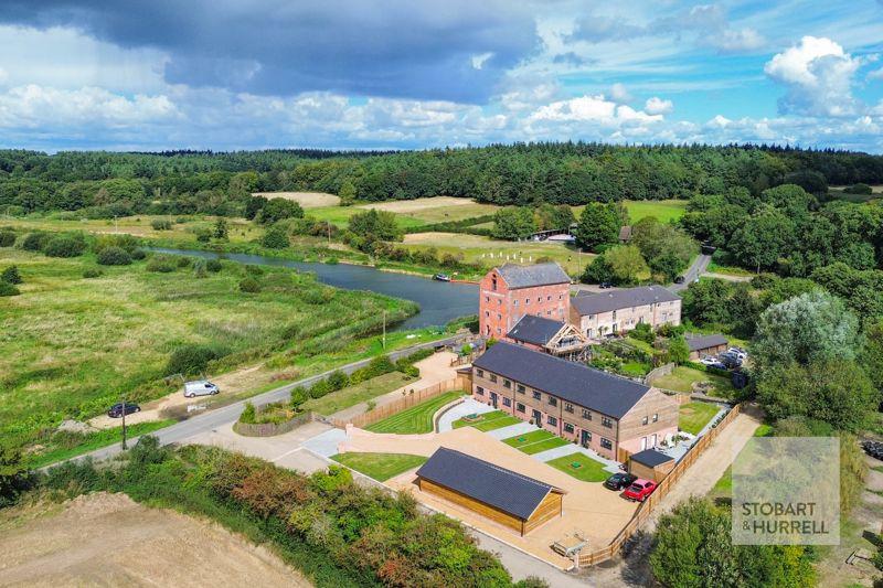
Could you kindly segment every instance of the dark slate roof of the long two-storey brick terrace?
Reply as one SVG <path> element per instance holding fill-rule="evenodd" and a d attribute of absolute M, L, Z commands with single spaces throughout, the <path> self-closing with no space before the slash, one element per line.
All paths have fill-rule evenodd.
<path fill-rule="evenodd" d="M 650 389 L 582 363 L 503 342 L 472 365 L 614 418 L 621 418 Z"/>

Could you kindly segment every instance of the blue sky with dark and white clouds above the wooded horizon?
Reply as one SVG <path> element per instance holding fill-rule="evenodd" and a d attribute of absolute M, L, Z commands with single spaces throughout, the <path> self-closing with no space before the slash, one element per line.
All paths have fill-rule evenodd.
<path fill-rule="evenodd" d="M 883 153 L 883 0 L 3 0 L 0 147 Z"/>

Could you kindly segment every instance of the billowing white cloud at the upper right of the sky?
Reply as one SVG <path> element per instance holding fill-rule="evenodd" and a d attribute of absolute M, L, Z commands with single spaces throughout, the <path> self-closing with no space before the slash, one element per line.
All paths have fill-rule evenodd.
<path fill-rule="evenodd" d="M 783 113 L 840 117 L 859 109 L 852 78 L 861 64 L 830 39 L 805 36 L 774 55 L 764 72 L 788 87 L 779 100 Z"/>

